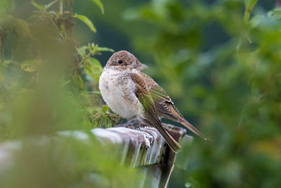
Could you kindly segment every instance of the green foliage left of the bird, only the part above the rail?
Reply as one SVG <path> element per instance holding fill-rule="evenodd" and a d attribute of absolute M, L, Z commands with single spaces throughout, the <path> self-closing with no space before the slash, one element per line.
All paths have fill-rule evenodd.
<path fill-rule="evenodd" d="M 63 13 L 55 11 L 55 6 L 63 6 L 64 1 L 60 1 L 60 4 L 52 1 L 46 5 L 39 5 L 35 1 L 31 1 L 30 5 L 33 5 L 38 11 L 34 11 L 28 20 L 7 15 L 6 19 L 0 23 L 3 60 L 1 63 L 0 110 L 4 117 L 13 117 L 1 120 L 0 127 L 3 131 L 1 131 L 0 139 L 17 138 L 30 134 L 50 134 L 65 129 L 87 130 L 91 127 L 112 126 L 112 123 L 116 123 L 116 121 L 108 118 L 111 115 L 108 112 L 106 116 L 95 119 L 96 113 L 105 113 L 100 110 L 101 98 L 97 94 L 86 91 L 97 88 L 98 77 L 103 70 L 100 62 L 93 56 L 101 55 L 102 51 L 113 50 L 99 47 L 97 44 L 77 48 L 71 34 L 73 15 L 70 15 L 70 11 L 64 10 L 64 8 Z M 51 10 L 51 8 L 54 9 Z M 81 18 L 80 15 L 75 16 Z M 83 19 L 91 23 L 89 18 L 83 16 Z M 91 28 L 91 30 L 93 29 L 94 27 Z M 4 48 L 7 35 L 13 35 L 15 38 L 10 49 Z M 19 49 L 18 46 L 22 46 L 22 48 Z M 12 50 L 11 58 L 6 58 L 6 61 L 4 61 L 5 50 Z M 41 87 L 43 85 L 44 87 Z M 49 91 L 52 91 L 53 94 L 48 97 L 41 95 L 41 93 L 48 94 Z M 36 100 L 41 102 L 38 103 Z M 34 103 L 41 106 L 37 106 L 37 108 L 42 108 L 42 111 L 36 110 L 35 106 L 33 108 L 28 105 Z M 18 106 L 16 111 L 13 110 L 15 106 Z M 30 111 L 24 110 L 25 106 L 30 106 Z M 69 111 L 67 106 L 75 110 Z M 46 109 L 44 109 L 45 107 Z M 98 110 L 90 112 L 89 108 Z M 57 110 L 53 112 L 52 109 Z M 69 115 L 73 119 L 67 120 L 63 118 L 65 115 L 59 115 L 63 111 L 65 111 L 65 115 L 70 113 Z M 35 120 L 32 113 L 38 117 L 44 113 L 46 117 L 41 117 L 43 122 L 45 120 L 44 123 L 41 123 L 42 126 L 37 125 L 39 121 Z M 107 123 L 98 125 L 100 121 Z M 38 126 L 38 128 L 33 130 L 34 126 Z M 42 128 L 43 126 L 45 127 Z"/>

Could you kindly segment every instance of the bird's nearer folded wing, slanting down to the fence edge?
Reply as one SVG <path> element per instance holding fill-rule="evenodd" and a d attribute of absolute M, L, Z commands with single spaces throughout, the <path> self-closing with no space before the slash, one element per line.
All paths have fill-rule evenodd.
<path fill-rule="evenodd" d="M 173 151 L 180 151 L 181 146 L 173 139 L 173 137 L 171 137 L 168 132 L 166 132 L 164 127 L 162 127 L 162 124 L 155 110 L 155 104 L 152 100 L 152 97 L 150 96 L 150 91 L 145 80 L 143 80 L 143 78 L 136 73 L 131 73 L 131 80 L 133 80 L 136 85 L 135 94 L 138 100 L 143 105 L 145 111 L 145 123 L 152 127 L 155 127 L 162 134 Z"/>

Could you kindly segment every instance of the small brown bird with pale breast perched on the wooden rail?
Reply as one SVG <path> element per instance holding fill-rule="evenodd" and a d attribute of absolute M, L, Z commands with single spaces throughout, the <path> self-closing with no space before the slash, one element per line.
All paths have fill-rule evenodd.
<path fill-rule="evenodd" d="M 100 75 L 99 89 L 103 100 L 113 112 L 129 120 L 126 125 L 135 123 L 155 127 L 171 149 L 179 151 L 181 146 L 162 127 L 158 116 L 163 115 L 178 122 L 184 122 L 184 118 L 178 113 L 164 89 L 148 75 L 141 73 L 143 68 L 145 65 L 128 51 L 113 54 Z M 168 106 L 173 108 L 166 107 L 165 103 L 170 103 Z M 189 125 L 188 128 L 192 131 L 203 135 L 189 123 L 183 125 Z"/>

